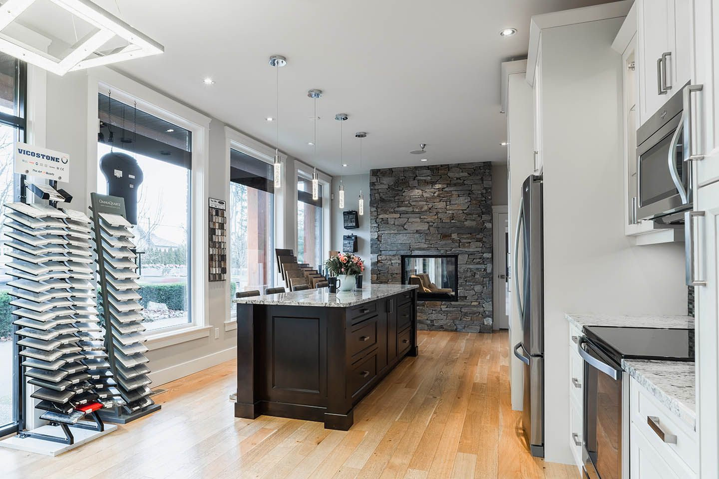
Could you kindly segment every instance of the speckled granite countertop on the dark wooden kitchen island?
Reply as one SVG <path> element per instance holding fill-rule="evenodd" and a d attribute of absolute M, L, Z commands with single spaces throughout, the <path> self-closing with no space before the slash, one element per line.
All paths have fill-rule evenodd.
<path fill-rule="evenodd" d="M 278 306 L 320 306 L 320 307 L 352 307 L 375 299 L 380 299 L 403 291 L 411 291 L 416 284 L 365 284 L 362 289 L 352 291 L 329 292 L 328 288 L 306 289 L 265 296 L 235 298 L 232 302 L 239 304 L 274 304 Z"/>

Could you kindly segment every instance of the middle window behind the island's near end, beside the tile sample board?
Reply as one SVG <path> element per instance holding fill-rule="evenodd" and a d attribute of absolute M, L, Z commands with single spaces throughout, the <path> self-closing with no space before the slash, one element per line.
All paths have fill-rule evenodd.
<path fill-rule="evenodd" d="M 273 167 L 260 159 L 230 150 L 229 274 L 230 298 L 235 292 L 273 287 L 275 194 Z M 230 316 L 237 315 L 229 303 Z"/>

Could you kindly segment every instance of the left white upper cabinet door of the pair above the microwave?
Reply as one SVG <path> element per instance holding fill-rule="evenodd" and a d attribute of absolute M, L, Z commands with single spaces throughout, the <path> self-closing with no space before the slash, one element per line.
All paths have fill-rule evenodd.
<path fill-rule="evenodd" d="M 641 93 L 639 121 L 644 124 L 672 95 L 672 0 L 638 0 L 637 57 Z M 671 34 L 670 34 L 671 32 Z"/>

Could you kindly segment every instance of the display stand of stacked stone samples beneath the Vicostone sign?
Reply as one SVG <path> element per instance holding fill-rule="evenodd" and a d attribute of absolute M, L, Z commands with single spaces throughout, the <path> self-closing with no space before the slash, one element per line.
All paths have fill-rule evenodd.
<path fill-rule="evenodd" d="M 114 399 L 119 391 L 108 370 L 94 303 L 90 219 L 79 211 L 58 209 L 58 203 L 70 203 L 72 197 L 57 190 L 57 182 L 26 182 L 21 175 L 20 201 L 4 208 L 19 371 L 13 387 L 18 434 L 0 445 L 45 452 L 37 440 L 72 446 L 73 429 L 99 433 L 81 434 L 82 442 L 114 430 L 105 427 L 97 410 L 122 400 Z M 28 189 L 50 204 L 28 204 Z M 26 430 L 27 383 L 37 386 L 30 397 L 37 399 L 35 409 L 44 411 L 40 419 L 49 426 Z M 92 422 L 81 421 L 88 416 Z M 68 447 L 56 447 L 55 452 L 60 449 Z"/>

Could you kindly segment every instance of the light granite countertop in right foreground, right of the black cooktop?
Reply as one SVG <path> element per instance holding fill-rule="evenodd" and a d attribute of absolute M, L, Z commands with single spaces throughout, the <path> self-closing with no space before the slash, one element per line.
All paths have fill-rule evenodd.
<path fill-rule="evenodd" d="M 622 360 L 622 368 L 664 406 L 696 429 L 695 363 Z"/>

